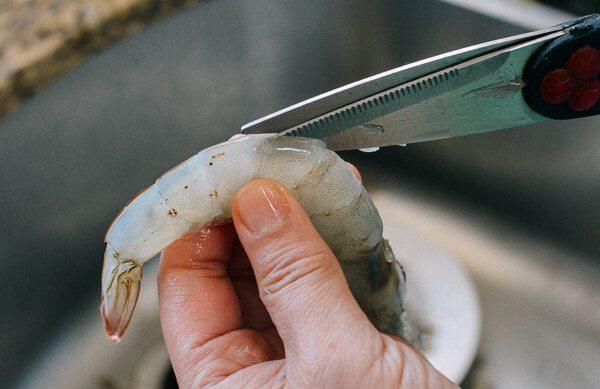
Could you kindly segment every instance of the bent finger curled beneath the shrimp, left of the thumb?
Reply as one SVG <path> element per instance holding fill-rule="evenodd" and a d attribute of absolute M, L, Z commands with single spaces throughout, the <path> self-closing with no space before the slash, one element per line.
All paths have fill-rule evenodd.
<path fill-rule="evenodd" d="M 186 366 L 194 349 L 241 327 L 237 295 L 227 275 L 233 227 L 190 233 L 162 253 L 158 296 L 163 334 L 173 367 Z"/>

